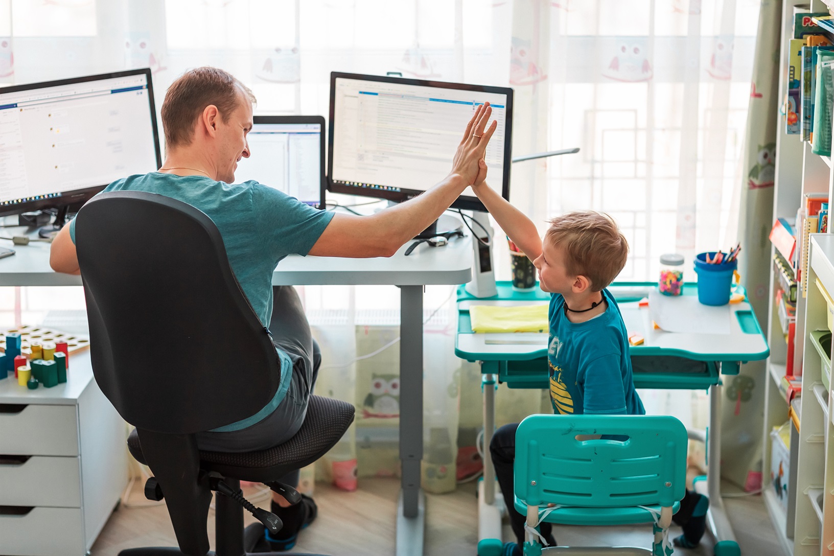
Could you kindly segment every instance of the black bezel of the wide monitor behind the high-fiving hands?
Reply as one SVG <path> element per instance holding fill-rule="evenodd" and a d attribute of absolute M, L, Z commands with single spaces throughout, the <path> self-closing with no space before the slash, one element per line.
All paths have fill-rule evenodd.
<path fill-rule="evenodd" d="M 506 121 L 505 121 L 505 143 L 504 143 L 504 174 L 502 176 L 503 183 L 501 186 L 501 196 L 507 201 L 510 200 L 510 165 L 512 160 L 512 126 L 513 126 L 513 89 L 509 87 L 493 87 L 491 85 L 471 85 L 467 83 L 451 83 L 445 81 L 434 81 L 425 79 L 411 79 L 411 78 L 394 78 L 381 75 L 365 75 L 362 73 L 330 73 L 330 111 L 329 111 L 329 133 L 328 133 L 328 149 L 327 149 L 327 188 L 333 193 L 346 193 L 349 195 L 362 195 L 364 197 L 374 197 L 389 199 L 397 203 L 407 201 L 414 198 L 423 191 L 415 189 L 403 189 L 399 192 L 386 191 L 384 189 L 370 189 L 357 188 L 353 186 L 346 186 L 333 181 L 333 140 L 334 140 L 334 117 L 335 117 L 335 99 L 336 99 L 336 79 L 356 79 L 359 81 L 374 81 L 379 83 L 397 83 L 402 85 L 418 85 L 420 87 L 432 88 L 448 88 L 458 89 L 463 91 L 475 91 L 477 93 L 497 93 L 506 95 Z M 463 133 L 463 130 L 461 130 Z M 451 171 L 451 168 L 450 168 Z M 428 184 L 428 187 L 435 185 Z M 465 210 L 477 210 L 486 212 L 484 203 L 481 203 L 477 197 L 461 195 L 455 199 L 451 208 L 463 208 Z"/>

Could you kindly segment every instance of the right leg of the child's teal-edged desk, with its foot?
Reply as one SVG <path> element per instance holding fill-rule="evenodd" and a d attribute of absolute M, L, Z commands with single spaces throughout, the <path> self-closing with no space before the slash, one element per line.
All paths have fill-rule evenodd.
<path fill-rule="evenodd" d="M 710 387 L 710 430 L 707 436 L 706 494 L 710 498 L 710 509 L 706 513 L 706 524 L 716 538 L 716 556 L 739 556 L 741 548 L 736 542 L 730 520 L 727 518 L 724 501 L 721 499 L 721 393 L 718 384 Z M 703 482 L 696 483 L 701 485 Z M 696 488 L 697 489 L 697 488 Z M 700 490 L 700 489 L 698 489 Z"/>

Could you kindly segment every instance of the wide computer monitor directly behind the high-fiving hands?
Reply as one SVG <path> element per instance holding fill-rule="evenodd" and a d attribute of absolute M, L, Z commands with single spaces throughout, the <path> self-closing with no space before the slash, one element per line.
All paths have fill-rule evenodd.
<path fill-rule="evenodd" d="M 511 88 L 331 73 L 329 190 L 392 201 L 419 195 L 450 173 L 466 123 L 485 102 L 498 122 L 487 183 L 509 200 Z M 452 207 L 485 210 L 471 188 Z"/>

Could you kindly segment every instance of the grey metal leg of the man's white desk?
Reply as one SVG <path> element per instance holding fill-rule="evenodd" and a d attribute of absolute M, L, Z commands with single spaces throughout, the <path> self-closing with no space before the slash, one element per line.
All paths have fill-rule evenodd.
<path fill-rule="evenodd" d="M 399 459 L 402 490 L 397 506 L 397 556 L 422 556 L 425 494 L 420 488 L 423 459 L 423 286 L 400 286 L 399 293 Z"/>

